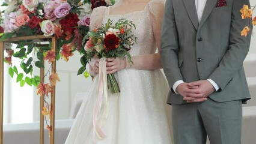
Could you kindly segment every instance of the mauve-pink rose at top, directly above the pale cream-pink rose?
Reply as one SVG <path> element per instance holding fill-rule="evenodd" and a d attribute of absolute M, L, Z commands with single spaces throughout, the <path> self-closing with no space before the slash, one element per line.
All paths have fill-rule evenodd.
<path fill-rule="evenodd" d="M 56 20 L 56 16 L 54 14 L 55 9 L 59 6 L 59 4 L 55 1 L 48 1 L 44 7 L 44 18 L 50 21 Z"/>

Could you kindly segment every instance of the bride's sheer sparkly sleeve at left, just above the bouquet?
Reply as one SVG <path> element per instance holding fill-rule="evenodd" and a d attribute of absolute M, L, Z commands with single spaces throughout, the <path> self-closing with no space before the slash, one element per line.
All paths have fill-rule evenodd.
<path fill-rule="evenodd" d="M 102 20 L 105 14 L 105 10 L 105 6 L 93 9 L 93 13 L 91 13 L 90 31 L 96 27 L 102 26 Z"/>

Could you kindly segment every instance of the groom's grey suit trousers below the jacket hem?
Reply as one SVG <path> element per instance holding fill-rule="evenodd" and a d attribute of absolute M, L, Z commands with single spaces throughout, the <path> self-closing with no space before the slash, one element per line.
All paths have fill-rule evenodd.
<path fill-rule="evenodd" d="M 241 144 L 241 100 L 172 104 L 174 144 Z"/>

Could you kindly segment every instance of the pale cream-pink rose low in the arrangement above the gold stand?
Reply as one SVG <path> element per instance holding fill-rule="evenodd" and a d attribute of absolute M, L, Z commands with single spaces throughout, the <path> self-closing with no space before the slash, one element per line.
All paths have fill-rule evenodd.
<path fill-rule="evenodd" d="M 41 31 L 44 33 L 43 35 L 46 37 L 53 35 L 55 32 L 55 28 L 52 21 L 43 20 L 43 22 L 41 23 Z"/>

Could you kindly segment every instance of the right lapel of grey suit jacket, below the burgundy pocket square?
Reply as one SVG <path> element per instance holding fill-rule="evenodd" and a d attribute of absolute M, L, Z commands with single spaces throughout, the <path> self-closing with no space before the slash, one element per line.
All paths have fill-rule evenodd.
<path fill-rule="evenodd" d="M 201 26 L 204 24 L 204 22 L 206 22 L 206 19 L 209 17 L 210 13 L 212 12 L 217 2 L 218 0 L 207 0 L 206 6 L 204 7 L 204 13 L 201 18 L 201 22 L 198 29 L 200 29 Z"/>

